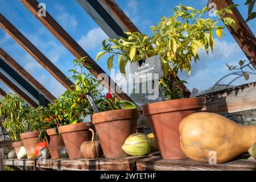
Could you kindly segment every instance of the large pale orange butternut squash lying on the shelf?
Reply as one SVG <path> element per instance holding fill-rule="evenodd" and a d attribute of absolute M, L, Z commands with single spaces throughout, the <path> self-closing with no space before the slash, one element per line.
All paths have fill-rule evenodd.
<path fill-rule="evenodd" d="M 207 112 L 185 117 L 179 132 L 184 154 L 205 163 L 213 154 L 216 154 L 217 163 L 227 162 L 247 152 L 256 142 L 256 126 L 240 125 L 222 115 Z"/>

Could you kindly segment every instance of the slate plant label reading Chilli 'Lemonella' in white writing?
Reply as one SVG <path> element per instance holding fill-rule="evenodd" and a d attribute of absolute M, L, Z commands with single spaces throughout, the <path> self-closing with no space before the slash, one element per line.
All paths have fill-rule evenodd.
<path fill-rule="evenodd" d="M 163 77 L 160 55 L 131 63 L 130 69 L 136 85 L 142 82 L 158 80 Z M 155 77 L 154 74 L 158 74 L 158 77 Z"/>

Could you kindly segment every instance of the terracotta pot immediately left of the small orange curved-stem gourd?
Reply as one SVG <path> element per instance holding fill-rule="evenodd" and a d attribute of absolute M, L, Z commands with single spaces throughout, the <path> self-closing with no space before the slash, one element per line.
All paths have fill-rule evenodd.
<path fill-rule="evenodd" d="M 81 159 L 83 158 L 80 152 L 80 146 L 83 142 L 92 139 L 92 132 L 90 123 L 77 123 L 71 125 L 60 126 L 59 131 L 63 137 L 65 147 L 68 151 L 69 159 Z"/>

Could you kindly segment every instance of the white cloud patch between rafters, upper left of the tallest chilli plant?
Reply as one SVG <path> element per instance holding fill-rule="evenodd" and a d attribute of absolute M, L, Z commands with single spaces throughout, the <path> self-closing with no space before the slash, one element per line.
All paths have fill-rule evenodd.
<path fill-rule="evenodd" d="M 105 39 L 108 39 L 108 36 L 98 27 L 90 30 L 85 36 L 83 35 L 77 43 L 85 50 L 88 50 L 101 47 L 101 43 Z"/>

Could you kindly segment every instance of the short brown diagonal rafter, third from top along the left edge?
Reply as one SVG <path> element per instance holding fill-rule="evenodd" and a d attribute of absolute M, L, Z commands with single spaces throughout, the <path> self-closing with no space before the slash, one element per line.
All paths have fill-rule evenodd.
<path fill-rule="evenodd" d="M 21 90 L 18 86 L 16 86 L 9 78 L 7 78 L 3 73 L 0 72 L 0 80 L 4 82 L 13 92 L 18 94 L 24 101 L 27 102 L 28 105 L 37 107 L 38 104 L 34 100 L 32 100 L 23 90 Z"/>

